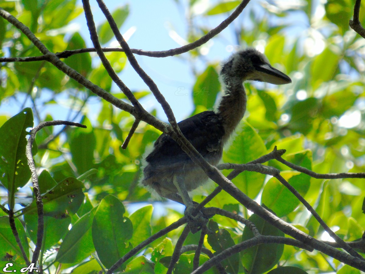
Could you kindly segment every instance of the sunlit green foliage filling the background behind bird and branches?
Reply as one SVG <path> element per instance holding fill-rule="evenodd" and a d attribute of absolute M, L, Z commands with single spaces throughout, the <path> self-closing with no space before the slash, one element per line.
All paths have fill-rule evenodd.
<path fill-rule="evenodd" d="M 182 36 L 187 42 L 193 42 L 206 34 L 215 27 L 211 22 L 221 22 L 240 3 L 199 0 L 189 3 L 178 0 L 175 2 L 186 15 L 187 33 Z M 227 146 L 223 156 L 224 162 L 247 163 L 270 152 L 276 145 L 279 149 L 287 150 L 285 159 L 315 172 L 364 171 L 365 42 L 348 26 L 348 21 L 353 16 L 353 5 L 354 1 L 350 0 L 326 3 L 251 1 L 231 28 L 212 39 L 214 43 L 207 43 L 183 56 L 172 57 L 179 58 L 179 62 L 187 65 L 193 76 L 191 85 L 182 90 L 192 96 L 191 114 L 212 109 L 219 93 L 219 62 L 216 58 L 210 60 L 208 54 L 214 52 L 215 44 L 224 44 L 227 51 L 247 46 L 264 50 L 271 64 L 292 78 L 292 84 L 280 87 L 262 83 L 245 84 L 248 96 L 245 121 L 237 131 L 237 136 Z M 0 7 L 26 24 L 52 52 L 80 49 L 86 45 L 84 36 L 67 28 L 73 19 L 83 16 L 82 8 L 74 0 L 0 1 Z M 147 4 L 144 7 L 128 4 L 116 7 L 113 13 L 119 26 L 134 12 L 132 7 L 148 8 Z M 363 4 L 360 10 L 363 25 L 364 14 Z M 100 24 L 98 34 L 100 42 L 109 45 L 112 36 L 106 23 Z M 232 39 L 227 41 L 228 36 Z M 39 50 L 20 34 L 19 30 L 2 18 L 0 43 L 1 57 L 40 55 Z M 136 47 L 149 49 L 148 41 Z M 164 49 L 168 48 L 161 45 L 158 50 Z M 228 56 L 229 53 L 226 53 L 225 56 Z M 126 67 L 124 53 L 111 52 L 106 53 L 106 56 L 115 71 L 122 73 L 123 79 L 123 70 Z M 104 90 L 124 99 L 124 95 L 112 85 L 103 66 L 93 57 L 95 54 L 82 53 L 64 61 Z M 168 65 L 167 61 L 166 64 Z M 73 273 L 87 273 L 85 269 L 92 273 L 100 270 L 98 262 L 108 268 L 140 241 L 183 216 L 181 210 L 175 210 L 172 203 L 168 203 L 164 210 L 154 214 L 153 206 L 140 203 L 150 199 L 150 194 L 138 186 L 141 157 L 146 146 L 160 135 L 158 130 L 146 123 L 140 123 L 128 148 L 123 150 L 120 146 L 134 121 L 133 117 L 96 98 L 51 64 L 44 61 L 3 62 L 0 73 L 0 124 L 5 126 L 5 121 L 10 118 L 6 111 L 3 111 L 7 109 L 7 104 L 11 102 L 14 106 L 16 102 L 15 113 L 24 107 L 32 109 L 32 114 L 27 110 L 27 116 L 24 118 L 26 121 L 32 119 L 29 115 L 34 115 L 36 123 L 52 120 L 57 111 L 55 113 L 50 109 L 60 110 L 59 105 L 62 105 L 67 113 L 66 119 L 81 121 L 88 126 L 87 129 L 45 128 L 36 137 L 38 153 L 35 155 L 35 162 L 38 174 L 41 174 L 41 193 L 47 193 L 47 190 L 53 187 L 61 188 L 67 178 L 79 179 L 72 179 L 72 184 L 67 183 L 68 186 L 74 187 L 65 190 L 69 195 L 75 195 L 71 207 L 64 207 L 64 203 L 70 200 L 62 202 L 58 197 L 50 199 L 41 252 L 43 267 L 48 268 L 50 273 L 75 266 L 77 267 Z M 180 91 L 177 89 L 177 92 Z M 146 104 L 153 98 L 145 88 L 134 90 L 134 95 Z M 173 99 L 178 100 L 178 97 Z M 44 109 L 50 111 L 43 111 Z M 151 113 L 157 112 L 152 109 Z M 20 118 L 18 116 L 18 119 Z M 19 125 L 20 131 L 32 126 L 25 125 L 26 123 L 24 126 Z M 57 136 L 61 130 L 62 133 Z M 8 131 L 3 132 L 4 136 L 6 132 Z M 6 145 L 5 142 L 1 144 Z M 296 184 L 297 190 L 344 240 L 361 238 L 365 226 L 365 216 L 361 211 L 364 199 L 363 180 L 314 179 L 290 171 L 276 161 L 270 161 L 269 165 L 282 170 L 283 176 L 285 175 L 289 182 L 293 178 L 292 183 Z M 17 227 L 26 247 L 27 238 L 35 242 L 37 224 L 35 204 L 31 203 L 31 184 L 27 183 L 29 174 L 27 176 L 19 182 L 17 187 L 22 188 L 15 198 L 17 213 L 22 213 L 16 221 Z M 264 183 L 266 181 L 267 183 Z M 266 181 L 264 175 L 248 172 L 233 180 L 239 189 L 249 197 L 256 198 L 259 203 L 265 203 L 278 217 L 296 224 L 313 237 L 327 239 L 326 233 L 323 233 L 318 223 L 299 202 L 291 198 L 291 194 L 283 191 L 280 183 L 269 178 L 266 178 Z M 2 183 L 5 186 L 4 180 Z M 201 201 L 214 186 L 214 183 L 210 183 L 200 187 L 193 192 L 193 199 Z M 5 187 L 1 188 L 2 205 L 7 204 L 9 198 Z M 68 199 L 69 197 L 72 196 L 68 196 Z M 120 201 L 127 206 L 127 211 Z M 159 206 L 158 203 L 154 205 Z M 247 218 L 250 215 L 225 193 L 220 193 L 209 205 L 242 212 Z M 26 210 L 22 211 L 24 206 L 27 206 Z M 5 216 L 4 212 L 0 214 Z M 124 221 L 121 222 L 120 216 L 123 215 Z M 213 221 L 219 224 L 222 231 L 227 232 L 224 235 L 232 244 L 242 240 L 241 225 L 215 216 L 210 223 L 212 227 Z M 4 238 L 13 239 L 3 217 L 0 218 L 0 224 Z M 69 231 L 70 224 L 72 230 Z M 118 233 L 108 235 L 111 233 L 110 225 L 105 224 L 115 225 Z M 181 228 L 154 241 L 143 255 L 128 262 L 127 269 L 153 271 L 152 261 L 156 263 L 154 271 L 164 273 L 166 259 L 163 257 L 172 254 L 180 233 Z M 105 247 L 105 239 L 110 239 L 111 236 L 117 237 L 118 240 Z M 198 240 L 199 233 L 189 235 L 185 243 L 197 243 Z M 75 242 L 77 244 L 72 244 Z M 6 247 L 6 252 L 15 256 L 15 263 L 24 265 L 16 243 L 9 247 L 7 243 L 0 241 L 1 246 Z M 205 246 L 217 251 L 209 239 L 205 240 Z M 0 255 L 5 261 L 5 254 Z M 180 267 L 183 267 L 184 263 L 184 267 L 191 269 L 189 256 L 191 255 L 182 256 Z M 242 256 L 241 254 L 231 258 L 233 262 L 226 262 L 226 265 L 239 266 L 229 269 L 231 273 L 244 273 L 244 267 L 253 269 L 253 266 L 242 261 Z M 350 273 L 349 266 L 330 260 L 319 252 L 310 253 L 285 246 L 279 257 L 277 261 L 274 260 L 276 263 L 272 266 L 272 262 L 268 262 L 265 271 L 276 268 L 278 263 L 280 266 L 300 267 L 307 273 Z M 206 258 L 202 255 L 201 260 Z M 187 269 L 181 271 L 188 271 Z M 351 271 L 360 273 L 354 269 Z"/>

